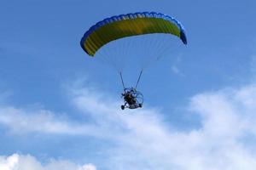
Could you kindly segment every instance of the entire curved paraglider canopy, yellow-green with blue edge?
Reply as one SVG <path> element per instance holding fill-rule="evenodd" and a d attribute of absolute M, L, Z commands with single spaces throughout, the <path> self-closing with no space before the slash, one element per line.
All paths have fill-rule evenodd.
<path fill-rule="evenodd" d="M 113 40 L 152 33 L 172 34 L 187 44 L 180 22 L 166 14 L 143 12 L 120 14 L 96 23 L 85 32 L 80 45 L 87 54 L 94 56 L 99 48 Z"/>

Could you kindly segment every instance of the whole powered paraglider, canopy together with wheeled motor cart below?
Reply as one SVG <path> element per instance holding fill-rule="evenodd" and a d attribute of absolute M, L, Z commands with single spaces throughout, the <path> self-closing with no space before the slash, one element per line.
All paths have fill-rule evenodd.
<path fill-rule="evenodd" d="M 120 39 L 128 37 L 142 37 L 143 35 L 153 34 L 164 34 L 166 37 L 167 35 L 172 35 L 172 37 L 178 37 L 183 44 L 187 44 L 184 28 L 176 19 L 166 14 L 143 12 L 120 14 L 97 22 L 96 25 L 91 26 L 90 29 L 84 33 L 84 37 L 82 37 L 80 45 L 86 54 L 93 57 L 101 50 L 101 48 L 107 46 L 110 42 L 119 41 Z M 172 39 L 172 37 L 167 38 Z M 165 42 L 161 42 L 161 40 L 158 41 L 160 41 L 158 43 L 163 43 L 163 45 L 167 44 Z M 147 40 L 146 42 L 152 43 L 153 41 L 151 42 Z M 155 45 L 154 47 L 157 48 L 158 46 L 159 45 Z M 169 47 L 167 46 L 166 48 Z M 146 50 L 150 50 L 150 48 Z M 155 55 L 161 54 L 160 52 L 157 52 Z M 148 57 L 146 54 L 144 56 Z M 119 56 L 119 58 L 121 57 L 122 56 Z M 154 57 L 155 59 L 160 58 L 160 56 Z M 108 58 L 105 57 L 104 59 Z M 111 58 L 109 58 L 109 60 L 111 61 L 109 62 L 111 64 L 115 61 L 115 59 Z M 135 88 L 126 88 L 122 77 L 122 70 L 118 69 L 118 71 L 124 88 L 124 93 L 122 94 L 124 105 L 121 105 L 121 109 L 141 108 L 143 106 L 143 94 L 137 91 L 137 85 L 142 76 L 143 68 L 140 71 Z"/>

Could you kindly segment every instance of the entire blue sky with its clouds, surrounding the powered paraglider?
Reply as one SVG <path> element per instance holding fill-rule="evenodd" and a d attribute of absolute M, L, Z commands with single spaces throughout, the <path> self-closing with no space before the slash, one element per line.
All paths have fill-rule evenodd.
<path fill-rule="evenodd" d="M 3 0 L 0 169 L 253 169 L 255 7 Z M 120 111 L 119 75 L 79 41 L 97 21 L 138 11 L 181 21 L 188 45 L 144 72 L 143 109 Z"/>

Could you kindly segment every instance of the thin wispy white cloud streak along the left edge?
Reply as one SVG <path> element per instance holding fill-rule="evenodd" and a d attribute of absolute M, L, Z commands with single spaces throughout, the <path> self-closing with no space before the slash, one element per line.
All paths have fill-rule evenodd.
<path fill-rule="evenodd" d="M 54 133 L 71 135 L 96 135 L 91 133 L 90 125 L 71 122 L 65 117 L 56 116 L 46 110 L 27 111 L 15 107 L 0 107 L 0 124 L 9 127 L 12 133 Z"/>

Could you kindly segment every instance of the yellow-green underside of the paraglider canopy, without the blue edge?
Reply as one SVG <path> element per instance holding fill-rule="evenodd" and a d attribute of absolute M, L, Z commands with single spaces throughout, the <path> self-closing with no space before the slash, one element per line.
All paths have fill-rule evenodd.
<path fill-rule="evenodd" d="M 162 18 L 124 18 L 98 27 L 81 42 L 81 46 L 93 56 L 103 45 L 119 38 L 151 33 L 172 34 L 180 38 L 181 32 L 176 23 Z"/>

